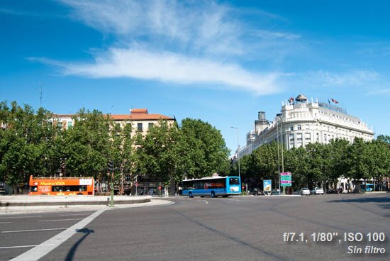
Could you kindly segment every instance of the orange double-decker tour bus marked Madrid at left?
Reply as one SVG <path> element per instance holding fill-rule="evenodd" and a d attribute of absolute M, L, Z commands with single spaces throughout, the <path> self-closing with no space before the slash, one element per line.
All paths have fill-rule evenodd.
<path fill-rule="evenodd" d="M 29 195 L 94 195 L 93 177 L 33 177 Z"/>

